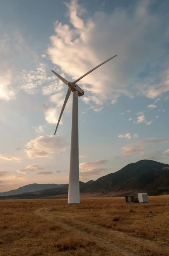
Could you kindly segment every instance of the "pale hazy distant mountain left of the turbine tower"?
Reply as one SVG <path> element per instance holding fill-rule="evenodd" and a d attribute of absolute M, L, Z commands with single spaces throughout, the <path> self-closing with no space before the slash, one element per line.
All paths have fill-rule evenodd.
<path fill-rule="evenodd" d="M 18 195 L 26 192 L 34 192 L 39 191 L 42 189 L 52 189 L 52 188 L 59 188 L 65 186 L 65 184 L 29 184 L 23 187 L 20 187 L 19 189 L 10 190 L 8 192 L 1 192 L 0 196 L 8 196 L 8 195 Z"/>

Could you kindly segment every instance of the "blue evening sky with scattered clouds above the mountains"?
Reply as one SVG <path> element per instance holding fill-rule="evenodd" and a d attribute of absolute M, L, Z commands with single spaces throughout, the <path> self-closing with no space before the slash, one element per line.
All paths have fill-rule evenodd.
<path fill-rule="evenodd" d="M 10 8 L 9 8 L 10 6 Z M 78 82 L 80 180 L 129 163 L 169 163 L 169 2 L 0 1 L 0 192 L 68 183 Z"/>

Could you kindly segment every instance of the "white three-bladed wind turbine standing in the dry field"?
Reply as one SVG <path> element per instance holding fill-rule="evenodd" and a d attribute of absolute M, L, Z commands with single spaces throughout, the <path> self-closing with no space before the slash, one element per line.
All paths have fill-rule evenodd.
<path fill-rule="evenodd" d="M 107 61 L 115 58 L 117 55 L 109 58 Z M 62 111 L 59 116 L 59 120 L 56 126 L 54 135 L 56 134 L 62 113 L 65 109 L 66 103 L 68 102 L 71 91 L 73 92 L 73 105 L 72 105 L 72 133 L 71 133 L 71 148 L 70 148 L 70 172 L 69 172 L 69 190 L 68 190 L 68 204 L 79 204 L 80 203 L 80 190 L 79 190 L 79 135 L 78 135 L 78 96 L 83 96 L 84 91 L 76 84 L 83 77 L 87 76 L 93 70 L 100 67 L 107 61 L 94 67 L 92 70 L 87 72 L 85 75 L 79 77 L 73 82 L 68 82 L 65 78 L 57 74 L 54 70 L 52 72 L 68 85 L 68 92 L 63 103 Z"/>

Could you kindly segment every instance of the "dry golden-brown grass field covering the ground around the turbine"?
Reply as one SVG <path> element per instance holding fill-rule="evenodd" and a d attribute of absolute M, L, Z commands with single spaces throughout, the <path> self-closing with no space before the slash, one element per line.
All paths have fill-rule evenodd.
<path fill-rule="evenodd" d="M 169 256 L 169 196 L 0 201 L 0 256 Z"/>

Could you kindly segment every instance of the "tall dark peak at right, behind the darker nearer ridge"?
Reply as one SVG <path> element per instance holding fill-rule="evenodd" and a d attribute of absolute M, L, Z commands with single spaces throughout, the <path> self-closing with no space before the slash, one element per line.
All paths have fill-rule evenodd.
<path fill-rule="evenodd" d="M 128 164 L 118 172 L 100 177 L 91 185 L 83 187 L 81 192 L 99 193 L 100 195 L 118 192 L 118 195 L 120 195 L 124 192 L 141 191 L 148 184 L 154 182 L 153 173 L 155 171 L 153 169 L 157 169 L 166 175 L 167 171 L 163 170 L 165 167 L 169 167 L 169 165 L 152 160 L 140 160 L 136 163 Z"/>

